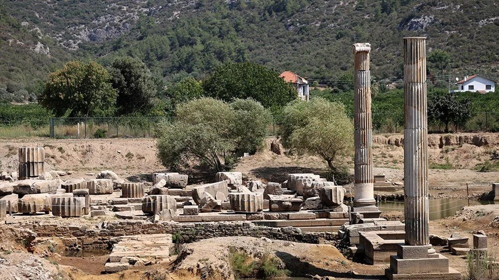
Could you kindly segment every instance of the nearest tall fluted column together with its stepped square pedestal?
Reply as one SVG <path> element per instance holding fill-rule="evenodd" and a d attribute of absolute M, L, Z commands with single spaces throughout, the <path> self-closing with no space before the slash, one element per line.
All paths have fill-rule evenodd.
<path fill-rule="evenodd" d="M 426 38 L 404 38 L 404 218 L 405 245 L 390 256 L 388 280 L 461 280 L 449 259 L 436 253 L 428 235 L 428 121 Z"/>

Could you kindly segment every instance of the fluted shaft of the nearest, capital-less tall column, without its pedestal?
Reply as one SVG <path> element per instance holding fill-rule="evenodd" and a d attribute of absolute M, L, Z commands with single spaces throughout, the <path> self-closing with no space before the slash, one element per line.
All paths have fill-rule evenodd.
<path fill-rule="evenodd" d="M 430 245 L 426 38 L 404 38 L 405 244 Z"/>

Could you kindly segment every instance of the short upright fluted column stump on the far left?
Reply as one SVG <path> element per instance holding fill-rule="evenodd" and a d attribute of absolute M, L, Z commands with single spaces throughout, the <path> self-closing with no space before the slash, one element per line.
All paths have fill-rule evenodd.
<path fill-rule="evenodd" d="M 20 147 L 19 179 L 39 178 L 45 175 L 45 149 L 43 147 Z"/>

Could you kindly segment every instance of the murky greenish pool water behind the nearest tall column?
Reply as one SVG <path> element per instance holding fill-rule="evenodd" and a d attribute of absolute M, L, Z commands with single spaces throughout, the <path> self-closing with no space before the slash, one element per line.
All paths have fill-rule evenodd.
<path fill-rule="evenodd" d="M 483 204 L 480 201 L 470 200 L 470 205 Z M 441 198 L 430 199 L 430 220 L 442 219 L 456 214 L 463 207 L 468 206 L 468 199 L 462 198 Z M 379 203 L 381 211 L 402 211 L 404 212 L 403 201 L 381 201 Z"/>

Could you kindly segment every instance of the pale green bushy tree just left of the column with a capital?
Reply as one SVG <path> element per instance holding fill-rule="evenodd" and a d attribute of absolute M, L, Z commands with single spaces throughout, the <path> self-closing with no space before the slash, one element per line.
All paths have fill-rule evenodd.
<path fill-rule="evenodd" d="M 295 100 L 284 107 L 279 134 L 285 147 L 322 157 L 333 173 L 339 168 L 335 160 L 354 150 L 353 124 L 344 106 L 323 98 Z"/>

